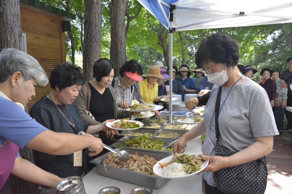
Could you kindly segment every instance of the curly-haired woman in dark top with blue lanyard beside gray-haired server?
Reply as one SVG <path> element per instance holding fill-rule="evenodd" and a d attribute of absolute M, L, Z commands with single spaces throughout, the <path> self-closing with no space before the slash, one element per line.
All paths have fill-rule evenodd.
<path fill-rule="evenodd" d="M 111 131 L 103 125 L 90 126 L 83 122 L 77 106 L 72 103 L 85 81 L 80 67 L 69 63 L 56 66 L 50 77 L 52 92 L 32 106 L 30 116 L 55 132 L 78 134 L 79 131 L 84 131 L 93 134 L 101 130 Z M 100 140 L 100 151 L 102 149 L 103 144 Z M 74 162 L 75 154 L 82 159 L 78 164 Z M 79 153 L 55 156 L 34 150 L 36 165 L 59 177 L 81 176 L 86 169 L 85 154 L 81 150 Z"/>

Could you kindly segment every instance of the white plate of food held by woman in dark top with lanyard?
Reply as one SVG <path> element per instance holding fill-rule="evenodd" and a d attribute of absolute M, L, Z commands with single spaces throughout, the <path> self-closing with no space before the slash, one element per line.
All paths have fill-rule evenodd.
<path fill-rule="evenodd" d="M 108 128 L 114 130 L 134 130 L 141 128 L 144 124 L 139 121 L 132 121 L 132 120 L 116 120 L 113 122 L 107 122 L 105 124 Z"/>

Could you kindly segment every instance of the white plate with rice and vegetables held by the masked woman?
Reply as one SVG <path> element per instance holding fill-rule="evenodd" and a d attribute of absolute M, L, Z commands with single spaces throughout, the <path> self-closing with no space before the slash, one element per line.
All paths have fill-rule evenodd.
<path fill-rule="evenodd" d="M 193 164 L 187 164 L 188 160 L 191 160 Z M 208 163 L 208 161 L 202 160 L 198 154 L 176 153 L 158 161 L 153 166 L 153 172 L 166 179 L 180 179 L 199 174 L 208 166 Z"/>

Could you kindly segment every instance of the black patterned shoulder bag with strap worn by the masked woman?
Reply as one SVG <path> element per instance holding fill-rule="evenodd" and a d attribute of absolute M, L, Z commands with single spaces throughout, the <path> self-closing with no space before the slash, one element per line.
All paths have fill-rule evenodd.
<path fill-rule="evenodd" d="M 218 115 L 220 109 L 222 86 L 218 89 L 215 105 L 215 131 L 216 153 L 215 156 L 231 156 L 237 152 L 223 148 L 220 144 L 220 130 Z M 238 166 L 227 167 L 213 173 L 216 186 L 219 191 L 228 194 L 263 194 L 267 186 L 267 159 L 266 156 L 255 161 Z"/>

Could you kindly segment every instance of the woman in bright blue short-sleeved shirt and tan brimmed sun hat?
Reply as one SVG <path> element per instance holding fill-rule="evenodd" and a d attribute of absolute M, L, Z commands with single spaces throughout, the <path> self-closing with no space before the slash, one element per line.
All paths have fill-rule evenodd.
<path fill-rule="evenodd" d="M 183 84 L 183 90 L 184 90 L 184 95 L 185 94 L 196 94 L 196 84 L 192 78 L 190 78 L 191 71 L 189 66 L 183 64 L 180 66 L 178 69 L 178 75 L 181 77 L 178 78 L 178 81 L 180 81 Z M 182 100 L 185 100 L 185 96 L 182 96 Z"/>

